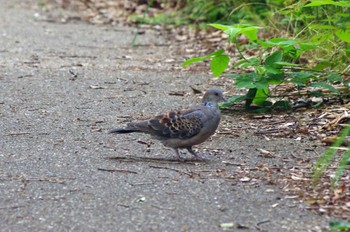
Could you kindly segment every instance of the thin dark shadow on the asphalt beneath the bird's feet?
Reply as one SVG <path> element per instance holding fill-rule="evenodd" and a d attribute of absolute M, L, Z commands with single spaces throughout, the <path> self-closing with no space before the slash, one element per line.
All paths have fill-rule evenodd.
<path fill-rule="evenodd" d="M 143 162 L 143 163 L 163 163 L 163 164 L 198 164 L 209 163 L 209 159 L 176 159 L 176 158 L 153 158 L 153 157 L 139 157 L 139 156 L 112 156 L 106 159 L 115 160 L 119 162 Z"/>

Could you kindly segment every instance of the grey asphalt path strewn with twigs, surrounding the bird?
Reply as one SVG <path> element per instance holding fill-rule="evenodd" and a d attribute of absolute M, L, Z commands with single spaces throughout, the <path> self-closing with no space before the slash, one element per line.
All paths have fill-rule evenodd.
<path fill-rule="evenodd" d="M 319 143 L 256 136 L 242 115 L 224 115 L 198 146 L 210 161 L 182 163 L 146 136 L 107 134 L 193 104 L 190 86 L 220 80 L 179 70 L 156 32 L 132 48 L 132 28 L 50 23 L 19 0 L 0 2 L 3 231 L 325 230 L 329 218 L 279 181 L 310 165 Z"/>

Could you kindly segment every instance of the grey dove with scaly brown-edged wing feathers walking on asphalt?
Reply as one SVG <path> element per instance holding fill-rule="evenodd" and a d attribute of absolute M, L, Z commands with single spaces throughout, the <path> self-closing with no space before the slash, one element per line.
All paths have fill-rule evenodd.
<path fill-rule="evenodd" d="M 187 109 L 169 111 L 148 120 L 129 122 L 125 128 L 109 131 L 114 134 L 145 133 L 160 140 L 164 146 L 173 148 L 179 160 L 179 149 L 187 149 L 195 159 L 203 160 L 192 146 L 206 141 L 219 126 L 221 113 L 218 103 L 226 101 L 219 88 L 206 91 L 202 103 Z"/>

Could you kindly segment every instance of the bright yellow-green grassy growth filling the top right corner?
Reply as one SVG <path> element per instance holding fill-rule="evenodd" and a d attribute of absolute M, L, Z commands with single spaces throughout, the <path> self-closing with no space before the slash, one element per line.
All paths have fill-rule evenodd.
<path fill-rule="evenodd" d="M 270 22 L 293 38 L 319 44 L 309 57 L 315 69 L 330 68 L 340 73 L 349 69 L 350 2 L 333 0 L 295 1 L 276 9 Z"/>

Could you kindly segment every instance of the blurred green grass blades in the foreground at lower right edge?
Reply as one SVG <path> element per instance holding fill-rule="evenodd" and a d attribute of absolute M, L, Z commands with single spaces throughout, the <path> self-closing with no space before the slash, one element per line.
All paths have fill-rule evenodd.
<path fill-rule="evenodd" d="M 317 184 L 321 178 L 321 175 L 326 171 L 327 167 L 331 163 L 333 157 L 337 152 L 337 148 L 344 142 L 346 136 L 350 135 L 350 123 L 348 123 L 345 128 L 340 132 L 337 140 L 332 144 L 327 151 L 318 158 L 312 170 L 312 180 L 314 184 Z M 345 168 L 349 165 L 350 160 L 350 145 L 347 148 L 347 151 L 343 154 L 340 159 L 337 170 L 335 171 L 335 175 L 332 180 L 333 187 L 338 184 L 339 178 L 345 171 Z"/>

